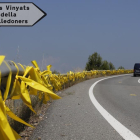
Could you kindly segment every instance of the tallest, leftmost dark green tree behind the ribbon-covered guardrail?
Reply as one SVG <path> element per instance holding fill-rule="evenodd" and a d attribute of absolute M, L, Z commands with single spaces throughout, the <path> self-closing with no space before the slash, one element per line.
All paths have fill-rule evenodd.
<path fill-rule="evenodd" d="M 95 52 L 95 53 L 93 53 L 92 55 L 89 56 L 85 69 L 87 71 L 90 71 L 90 70 L 93 70 L 93 69 L 94 70 L 99 70 L 99 69 L 101 69 L 101 66 L 102 66 L 102 57 L 100 56 L 100 54 Z"/>

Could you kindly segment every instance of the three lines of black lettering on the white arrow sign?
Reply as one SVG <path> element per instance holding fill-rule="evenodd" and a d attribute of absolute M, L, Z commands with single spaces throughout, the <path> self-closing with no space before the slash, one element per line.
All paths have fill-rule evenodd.
<path fill-rule="evenodd" d="M 23 10 L 30 10 L 28 6 L 12 6 L 12 5 L 5 5 L 5 9 L 11 12 L 0 12 L 0 23 L 28 23 L 28 20 L 13 20 L 10 17 L 16 17 L 16 12 L 23 11 Z M 0 11 L 3 10 L 3 7 L 0 7 Z M 4 17 L 9 17 L 8 20 L 3 19 Z"/>

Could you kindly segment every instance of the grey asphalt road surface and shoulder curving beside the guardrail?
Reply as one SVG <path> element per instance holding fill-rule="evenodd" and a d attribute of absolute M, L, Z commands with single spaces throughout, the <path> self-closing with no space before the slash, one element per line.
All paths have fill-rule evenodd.
<path fill-rule="evenodd" d="M 59 93 L 44 120 L 29 140 L 123 140 L 96 109 L 89 97 L 95 78 L 74 85 Z M 103 80 L 93 94 L 100 105 L 127 129 L 140 137 L 140 77 L 132 74 Z"/>

